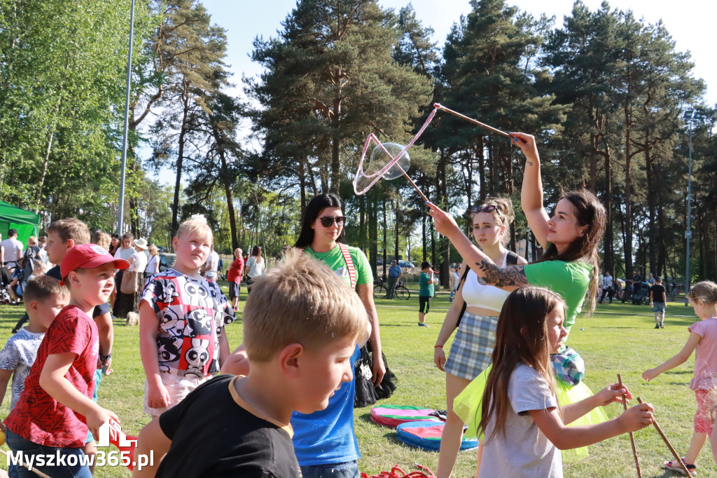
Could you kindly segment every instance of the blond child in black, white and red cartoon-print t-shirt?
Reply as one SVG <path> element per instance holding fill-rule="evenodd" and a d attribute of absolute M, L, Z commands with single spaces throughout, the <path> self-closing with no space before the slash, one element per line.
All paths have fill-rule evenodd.
<path fill-rule="evenodd" d="M 234 322 L 219 285 L 199 271 L 212 245 L 204 217 L 183 222 L 172 241 L 172 268 L 152 276 L 139 306 L 144 411 L 159 416 L 219 372 L 229 356 L 224 326 Z"/>

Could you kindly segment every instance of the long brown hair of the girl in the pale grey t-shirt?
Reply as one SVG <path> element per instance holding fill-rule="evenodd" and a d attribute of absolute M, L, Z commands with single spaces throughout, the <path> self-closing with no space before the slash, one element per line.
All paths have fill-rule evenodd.
<path fill-rule="evenodd" d="M 495 329 L 493 368 L 485 381 L 478 424 L 478 433 L 485 434 L 488 421 L 494 418 L 493 434 L 485 436 L 487 441 L 499 433 L 505 434 L 510 403 L 508 384 L 518 365 L 525 364 L 537 370 L 555 395 L 547 319 L 556 307 L 565 307 L 565 302 L 559 294 L 544 287 L 521 287 L 505 299 Z"/>

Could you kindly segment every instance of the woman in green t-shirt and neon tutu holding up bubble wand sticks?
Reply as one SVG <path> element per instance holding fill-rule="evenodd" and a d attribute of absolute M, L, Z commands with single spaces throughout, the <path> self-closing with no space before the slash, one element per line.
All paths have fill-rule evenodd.
<path fill-rule="evenodd" d="M 435 229 L 450 239 L 467 265 L 486 283 L 508 292 L 531 285 L 543 286 L 560 294 L 567 306 L 564 327 L 569 333 L 583 306 L 588 312 L 595 309 L 599 276 L 597 248 L 605 229 L 605 208 L 592 192 L 582 189 L 565 193 L 558 201 L 553 217 L 550 217 L 543 207 L 540 156 L 535 138 L 525 133 L 511 133 L 511 137 L 513 144 L 518 145 L 526 156 L 521 207 L 533 235 L 545 249 L 541 261 L 500 267 L 470 242 L 450 214 L 429 204 L 430 215 Z M 466 398 L 467 394 L 478 395 L 479 399 L 482 397 L 480 382 L 485 375 L 485 372 L 479 375 L 465 390 L 466 393 L 458 397 L 456 404 L 462 402 L 467 410 L 473 410 L 477 404 L 475 400 Z M 574 377 L 564 374 L 557 377 L 560 380 L 556 380 L 556 393 L 560 403 L 574 403 L 592 395 L 589 388 L 579 381 L 581 373 Z M 604 419 L 607 416 L 597 408 L 580 424 L 599 423 Z M 584 454 L 584 450 L 576 450 L 576 454 Z M 564 459 L 566 457 L 567 454 L 564 454 Z"/>

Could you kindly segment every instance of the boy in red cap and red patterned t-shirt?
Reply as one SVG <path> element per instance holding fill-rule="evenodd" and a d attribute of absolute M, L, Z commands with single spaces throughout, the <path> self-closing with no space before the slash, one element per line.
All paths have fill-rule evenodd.
<path fill-rule="evenodd" d="M 100 345 L 97 325 L 88 314 L 107 302 L 115 269 L 128 267 L 127 261 L 96 244 L 67 251 L 60 272 L 70 289 L 70 304 L 48 327 L 25 389 L 5 419 L 6 442 L 13 451 L 23 451 L 25 461 L 33 455 L 57 456 L 54 466 L 35 467 L 53 478 L 90 478 L 82 459 L 87 429 L 98 436 L 103 423 L 110 418 L 119 421 L 92 401 Z M 25 470 L 19 472 L 22 477 Z"/>

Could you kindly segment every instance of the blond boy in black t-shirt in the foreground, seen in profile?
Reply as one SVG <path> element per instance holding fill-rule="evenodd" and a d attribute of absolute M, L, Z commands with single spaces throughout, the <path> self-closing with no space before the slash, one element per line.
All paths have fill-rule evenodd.
<path fill-rule="evenodd" d="M 245 353 L 232 355 L 247 375 L 219 375 L 148 423 L 135 453 L 153 452 L 155 466 L 133 477 L 301 476 L 291 413 L 323 410 L 351 380 L 369 320 L 359 296 L 308 255 L 288 253 L 256 284 Z"/>

